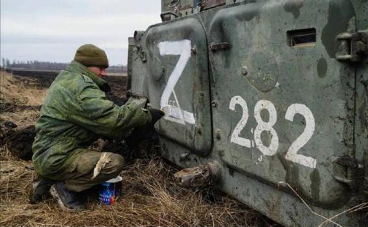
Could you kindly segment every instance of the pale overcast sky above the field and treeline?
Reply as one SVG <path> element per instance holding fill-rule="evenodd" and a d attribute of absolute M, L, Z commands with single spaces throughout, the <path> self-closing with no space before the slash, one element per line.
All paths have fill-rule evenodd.
<path fill-rule="evenodd" d="M 0 0 L 0 56 L 70 62 L 93 43 L 127 64 L 128 36 L 160 20 L 160 0 Z"/>

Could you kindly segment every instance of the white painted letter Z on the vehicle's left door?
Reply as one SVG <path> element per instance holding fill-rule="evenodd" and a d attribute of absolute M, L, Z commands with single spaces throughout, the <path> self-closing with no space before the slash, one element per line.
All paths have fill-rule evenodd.
<path fill-rule="evenodd" d="M 158 44 L 160 55 L 180 55 L 173 72 L 171 72 L 167 84 L 162 93 L 160 107 L 165 112 L 164 119 L 180 124 L 195 124 L 194 114 L 180 108 L 179 101 L 174 92 L 174 87 L 179 81 L 181 73 L 184 71 L 191 54 L 191 42 L 188 39 L 179 41 L 165 41 Z M 175 101 L 170 101 L 171 94 L 173 94 Z"/>

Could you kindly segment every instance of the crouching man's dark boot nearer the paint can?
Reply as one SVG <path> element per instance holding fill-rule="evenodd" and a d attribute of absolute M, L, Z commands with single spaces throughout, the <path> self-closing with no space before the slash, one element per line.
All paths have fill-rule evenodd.
<path fill-rule="evenodd" d="M 64 181 L 56 182 L 50 188 L 51 195 L 57 199 L 63 209 L 77 211 L 87 208 L 86 199 L 82 192 L 73 192 L 66 188 Z"/>

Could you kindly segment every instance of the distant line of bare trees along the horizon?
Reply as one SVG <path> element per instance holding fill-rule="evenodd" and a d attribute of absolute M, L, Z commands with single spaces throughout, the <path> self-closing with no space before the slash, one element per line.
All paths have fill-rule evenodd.
<path fill-rule="evenodd" d="M 10 62 L 8 58 L 1 58 L 1 65 L 5 68 L 24 68 L 30 70 L 64 70 L 69 63 L 57 63 L 50 61 L 17 61 Z M 125 65 L 111 65 L 107 72 L 127 72 Z"/>

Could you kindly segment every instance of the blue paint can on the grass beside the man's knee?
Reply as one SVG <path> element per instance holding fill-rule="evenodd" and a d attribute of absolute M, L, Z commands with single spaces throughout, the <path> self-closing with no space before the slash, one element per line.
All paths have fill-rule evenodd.
<path fill-rule="evenodd" d="M 122 177 L 117 176 L 101 184 L 100 202 L 105 205 L 113 205 L 118 196 L 121 195 L 121 181 Z"/>

